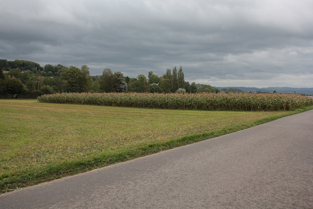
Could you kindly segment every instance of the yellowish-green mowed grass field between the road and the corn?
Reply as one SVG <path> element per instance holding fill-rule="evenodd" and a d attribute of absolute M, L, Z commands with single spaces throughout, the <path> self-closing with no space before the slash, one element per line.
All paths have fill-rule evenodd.
<path fill-rule="evenodd" d="M 164 110 L 1 99 L 1 193 L 300 111 Z"/>

